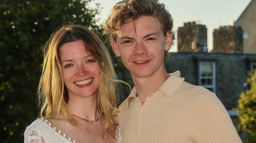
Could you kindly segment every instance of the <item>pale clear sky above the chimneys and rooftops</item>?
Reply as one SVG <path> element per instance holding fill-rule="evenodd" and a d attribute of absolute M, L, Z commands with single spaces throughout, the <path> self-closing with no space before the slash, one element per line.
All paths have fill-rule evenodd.
<path fill-rule="evenodd" d="M 107 18 L 111 8 L 120 0 L 92 0 L 90 7 L 96 7 L 100 3 L 100 14 L 96 19 L 100 19 L 98 24 L 102 24 Z M 174 30 L 177 32 L 183 23 L 195 21 L 196 24 L 206 25 L 207 28 L 207 48 L 213 49 L 213 31 L 220 26 L 231 25 L 245 10 L 251 0 L 159 0 L 167 6 L 174 19 Z M 176 34 L 177 36 L 177 34 Z M 177 41 L 170 52 L 177 52 Z"/>

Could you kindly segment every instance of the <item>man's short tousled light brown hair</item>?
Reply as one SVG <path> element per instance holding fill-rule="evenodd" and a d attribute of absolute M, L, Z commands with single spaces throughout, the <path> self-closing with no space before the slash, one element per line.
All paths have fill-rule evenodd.
<path fill-rule="evenodd" d="M 173 31 L 173 18 L 164 4 L 158 0 L 129 0 L 117 3 L 108 15 L 105 23 L 102 25 L 104 34 L 109 34 L 114 40 L 117 38 L 117 32 L 120 27 L 130 21 L 136 21 L 142 16 L 154 17 L 160 22 L 163 35 L 167 32 L 172 35 L 172 46 L 174 45 L 175 32 Z M 169 55 L 165 51 L 164 59 Z"/>

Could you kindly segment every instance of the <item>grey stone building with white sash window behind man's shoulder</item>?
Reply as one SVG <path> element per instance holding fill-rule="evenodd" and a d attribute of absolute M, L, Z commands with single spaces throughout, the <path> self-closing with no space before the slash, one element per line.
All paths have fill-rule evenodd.
<path fill-rule="evenodd" d="M 171 53 L 165 62 L 168 73 L 181 71 L 185 81 L 214 92 L 227 110 L 238 104 L 245 87 L 247 71 L 256 65 L 255 54 L 227 53 Z"/>

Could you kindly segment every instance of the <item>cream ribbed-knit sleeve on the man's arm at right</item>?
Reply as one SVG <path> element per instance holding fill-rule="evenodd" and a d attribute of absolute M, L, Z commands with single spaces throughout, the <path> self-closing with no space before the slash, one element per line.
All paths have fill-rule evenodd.
<path fill-rule="evenodd" d="M 197 129 L 202 143 L 242 143 L 224 105 L 214 93 L 204 103 Z"/>

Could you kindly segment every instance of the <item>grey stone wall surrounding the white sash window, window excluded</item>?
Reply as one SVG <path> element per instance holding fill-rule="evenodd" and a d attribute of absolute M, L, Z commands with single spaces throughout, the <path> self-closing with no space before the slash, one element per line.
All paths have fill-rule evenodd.
<path fill-rule="evenodd" d="M 246 59 L 256 55 L 215 53 L 171 53 L 165 69 L 168 73 L 181 71 L 185 81 L 198 85 L 198 59 L 216 61 L 216 95 L 227 110 L 238 104 L 239 95 L 245 87 L 248 67 Z"/>

